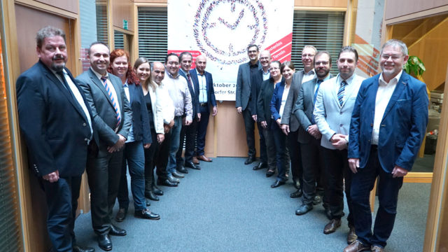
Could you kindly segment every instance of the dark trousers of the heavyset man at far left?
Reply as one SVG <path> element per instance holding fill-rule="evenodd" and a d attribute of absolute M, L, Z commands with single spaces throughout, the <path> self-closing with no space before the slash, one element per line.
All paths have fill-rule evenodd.
<path fill-rule="evenodd" d="M 81 176 L 59 177 L 54 183 L 39 178 L 39 183 L 47 201 L 47 230 L 53 250 L 72 251 Z"/>

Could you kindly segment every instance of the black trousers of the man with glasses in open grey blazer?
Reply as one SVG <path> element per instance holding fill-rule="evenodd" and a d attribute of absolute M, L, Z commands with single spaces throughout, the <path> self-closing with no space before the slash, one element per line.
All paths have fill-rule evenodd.
<path fill-rule="evenodd" d="M 291 160 L 291 174 L 293 174 L 294 186 L 302 188 L 303 183 L 303 166 L 302 153 L 300 153 L 300 144 L 297 142 L 298 130 L 289 132 L 286 137 L 286 145 L 288 146 L 289 156 Z M 299 183 L 297 185 L 297 183 Z"/>

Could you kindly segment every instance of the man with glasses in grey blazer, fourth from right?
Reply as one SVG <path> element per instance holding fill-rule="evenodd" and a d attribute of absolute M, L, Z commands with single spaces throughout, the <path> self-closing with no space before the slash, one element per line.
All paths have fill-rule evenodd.
<path fill-rule="evenodd" d="M 288 136 L 287 141 L 291 159 L 291 172 L 293 174 L 294 186 L 297 188 L 297 191 L 290 194 L 290 197 L 293 198 L 302 196 L 302 156 L 300 155 L 300 145 L 297 142 L 297 137 L 299 132 L 302 132 L 303 129 L 302 127 L 299 127 L 300 125 L 297 118 L 291 115 L 293 114 L 293 106 L 297 102 L 302 83 L 316 78 L 313 65 L 313 59 L 316 52 L 317 50 L 314 46 L 304 46 L 302 50 L 303 70 L 294 73 L 293 83 L 290 86 L 285 109 L 283 111 L 283 117 L 281 118 L 281 130 Z"/>

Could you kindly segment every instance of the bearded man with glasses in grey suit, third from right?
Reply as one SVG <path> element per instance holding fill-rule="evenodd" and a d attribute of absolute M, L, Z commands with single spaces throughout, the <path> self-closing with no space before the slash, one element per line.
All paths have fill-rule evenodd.
<path fill-rule="evenodd" d="M 299 97 L 293 108 L 294 116 L 298 119 L 300 127 L 305 130 L 299 131 L 298 141 L 300 142 L 300 152 L 302 157 L 307 157 L 303 162 L 303 197 L 302 205 L 295 211 L 295 214 L 307 214 L 313 209 L 316 200 L 316 174 L 323 173 L 321 157 L 321 132 L 319 132 L 313 111 L 316 103 L 316 94 L 324 80 L 332 78 L 330 74 L 331 55 L 330 52 L 320 51 L 314 56 L 314 71 L 316 77 L 302 84 Z M 325 199 L 328 200 L 328 199 Z M 325 207 L 325 205 L 324 205 Z M 325 214 L 328 214 L 328 207 L 325 207 Z"/>

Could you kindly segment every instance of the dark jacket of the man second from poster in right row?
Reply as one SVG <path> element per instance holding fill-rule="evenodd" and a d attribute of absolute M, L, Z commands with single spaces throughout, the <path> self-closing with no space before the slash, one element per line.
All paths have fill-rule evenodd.
<path fill-rule="evenodd" d="M 266 121 L 267 129 L 271 127 L 271 100 L 274 94 L 274 79 L 269 78 L 262 82 L 260 94 L 257 99 L 258 122 Z"/>

